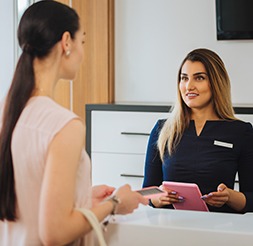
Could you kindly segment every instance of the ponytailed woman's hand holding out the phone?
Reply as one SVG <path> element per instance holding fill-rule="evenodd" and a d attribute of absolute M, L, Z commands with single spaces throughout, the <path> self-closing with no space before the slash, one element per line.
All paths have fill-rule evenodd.
<path fill-rule="evenodd" d="M 138 208 L 139 204 L 148 204 L 148 199 L 138 192 L 132 191 L 128 184 L 118 188 L 115 192 L 115 195 L 120 200 L 120 203 L 116 208 L 117 214 L 132 213 L 134 209 Z"/>

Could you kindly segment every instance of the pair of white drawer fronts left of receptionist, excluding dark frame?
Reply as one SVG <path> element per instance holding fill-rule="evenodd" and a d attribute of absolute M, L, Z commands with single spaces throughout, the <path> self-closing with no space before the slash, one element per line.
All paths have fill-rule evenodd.
<path fill-rule="evenodd" d="M 156 121 L 168 113 L 92 111 L 93 184 L 140 189 L 147 141 Z"/>

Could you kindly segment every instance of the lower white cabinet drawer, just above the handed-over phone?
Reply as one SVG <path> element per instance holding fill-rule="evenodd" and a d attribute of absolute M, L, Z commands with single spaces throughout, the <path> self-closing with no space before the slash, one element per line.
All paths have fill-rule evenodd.
<path fill-rule="evenodd" d="M 145 155 L 92 153 L 93 185 L 107 184 L 118 188 L 130 184 L 140 189 L 143 182 Z"/>

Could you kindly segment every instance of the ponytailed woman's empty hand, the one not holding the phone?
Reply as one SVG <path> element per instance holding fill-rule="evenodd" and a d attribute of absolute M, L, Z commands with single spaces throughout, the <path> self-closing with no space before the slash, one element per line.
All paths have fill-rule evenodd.
<path fill-rule="evenodd" d="M 114 192 L 115 188 L 108 185 L 96 185 L 92 187 L 92 205 L 96 206 Z"/>

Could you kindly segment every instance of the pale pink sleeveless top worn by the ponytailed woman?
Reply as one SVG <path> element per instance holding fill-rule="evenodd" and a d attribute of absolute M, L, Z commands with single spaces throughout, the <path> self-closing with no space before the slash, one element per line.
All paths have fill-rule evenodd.
<path fill-rule="evenodd" d="M 19 218 L 16 222 L 0 221 L 1 246 L 42 245 L 38 235 L 38 214 L 48 146 L 74 118 L 78 116 L 48 97 L 32 97 L 24 108 L 14 129 L 11 146 Z M 2 112 L 0 125 L 1 121 Z M 91 207 L 90 159 L 85 150 L 76 177 L 75 206 Z M 84 245 L 84 238 L 71 245 Z"/>

